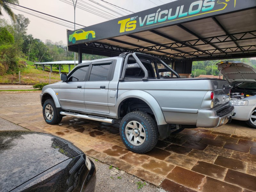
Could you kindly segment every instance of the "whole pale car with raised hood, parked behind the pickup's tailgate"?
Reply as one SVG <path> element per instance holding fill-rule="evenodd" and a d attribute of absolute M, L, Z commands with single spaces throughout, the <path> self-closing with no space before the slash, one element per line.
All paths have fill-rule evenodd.
<path fill-rule="evenodd" d="M 222 61 L 216 65 L 232 87 L 229 94 L 235 107 L 232 119 L 245 121 L 256 129 L 256 69 L 240 61 Z"/>

